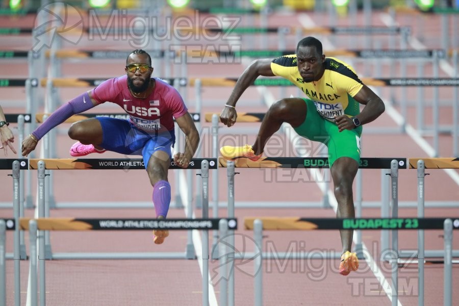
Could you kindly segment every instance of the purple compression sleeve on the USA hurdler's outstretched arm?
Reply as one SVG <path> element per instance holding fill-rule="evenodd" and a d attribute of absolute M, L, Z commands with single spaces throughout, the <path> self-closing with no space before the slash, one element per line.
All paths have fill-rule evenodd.
<path fill-rule="evenodd" d="M 43 124 L 38 126 L 32 134 L 37 137 L 37 139 L 41 139 L 46 133 L 53 129 L 53 127 L 61 124 L 72 115 L 82 113 L 93 107 L 94 105 L 92 104 L 89 94 L 85 92 L 58 108 L 43 122 Z"/>

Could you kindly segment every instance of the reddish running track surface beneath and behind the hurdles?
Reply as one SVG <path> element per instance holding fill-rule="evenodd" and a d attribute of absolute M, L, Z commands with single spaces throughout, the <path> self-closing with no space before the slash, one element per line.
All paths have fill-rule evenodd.
<path fill-rule="evenodd" d="M 202 16 L 201 16 L 202 17 Z M 439 17 L 418 16 L 425 22 L 423 43 L 426 48 L 440 47 L 440 19 Z M 22 26 L 31 27 L 33 17 L 14 19 L 2 17 L 2 26 Z M 387 14 L 384 12 L 374 12 L 372 18 L 373 25 L 385 26 Z M 398 15 L 397 22 L 400 25 L 413 25 L 414 17 L 411 15 Z M 258 22 L 255 19 L 254 22 Z M 244 21 L 247 22 L 247 21 Z M 346 25 L 345 18 L 339 18 L 338 24 Z M 363 24 L 363 16 L 359 15 L 356 24 Z M 328 16 L 312 13 L 298 14 L 274 14 L 269 17 L 270 27 L 288 25 L 292 27 L 312 26 L 330 24 Z M 413 29 L 413 28 L 412 28 Z M 414 28 L 414 34 L 416 29 Z M 327 50 L 338 48 L 362 48 L 364 38 L 362 36 L 340 36 L 329 39 L 328 36 L 316 35 L 324 45 L 325 54 Z M 30 36 L 26 37 L 4 37 L 5 49 L 29 49 L 31 46 Z M 260 37 L 254 37 L 260 39 Z M 269 45 L 276 48 L 277 40 L 275 36 L 270 36 Z M 373 41 L 378 41 L 379 45 L 388 44 L 387 38 L 376 37 Z M 200 42 L 205 43 L 205 42 Z M 207 42 L 209 44 L 209 42 Z M 243 46 L 253 44 L 253 41 L 245 38 Z M 289 38 L 288 49 L 294 49 L 296 42 L 294 38 Z M 254 43 L 257 45 L 257 42 Z M 129 49 L 126 42 L 119 41 L 89 41 L 82 39 L 77 46 L 65 45 L 65 48 L 77 49 Z M 358 70 L 361 77 L 372 77 L 371 69 L 373 66 L 364 65 L 362 61 L 346 59 Z M 371 61 L 369 61 L 371 62 Z M 368 62 L 366 62 L 368 63 Z M 395 62 L 399 65 L 399 62 Z M 2 66 L 2 78 L 26 78 L 27 64 L 22 60 L 0 62 Z M 237 78 L 246 67 L 245 61 L 240 64 L 189 64 L 188 75 L 190 77 L 233 77 Z M 368 74 L 365 74 L 366 70 Z M 399 76 L 399 70 L 396 75 Z M 425 75 L 432 75 L 432 67 L 426 65 Z M 180 71 L 180 70 L 179 70 Z M 389 65 L 383 64 L 382 71 L 389 76 Z M 156 76 L 160 71 L 156 71 Z M 416 68 L 409 65 L 407 72 L 409 76 L 416 77 Z M 68 60 L 62 64 L 62 77 L 66 78 L 109 78 L 123 73 L 122 60 Z M 441 77 L 451 77 L 441 71 Z M 89 88 L 66 88 L 60 89 L 62 101 L 81 93 Z M 385 103 L 389 106 L 391 99 L 400 99 L 400 89 L 377 88 Z M 416 99 L 416 88 L 407 88 L 407 96 L 412 100 Z M 2 88 L 4 97 L 2 101 L 6 113 L 21 113 L 25 111 L 25 99 L 23 88 Z M 225 98 L 231 93 L 228 87 L 206 87 L 203 89 L 203 112 L 219 113 Z M 239 112 L 264 112 L 267 107 L 261 102 L 261 94 L 269 93 L 272 99 L 282 97 L 282 94 L 296 95 L 297 91 L 288 88 L 281 91 L 275 88 L 248 89 L 238 104 Z M 43 91 L 40 92 L 43 94 Z M 424 89 L 426 100 L 431 98 L 431 88 Z M 451 88 L 441 88 L 441 98 L 448 99 L 452 95 Z M 190 111 L 194 110 L 195 98 L 194 89 L 189 88 L 186 92 L 187 105 Z M 6 101 L 5 101 L 6 100 Z M 40 111 L 43 111 L 41 108 Z M 120 112 L 120 109 L 104 105 L 92 110 L 94 112 Z M 393 111 L 400 111 L 397 103 L 393 104 Z M 407 120 L 409 124 L 416 127 L 416 108 L 409 107 Z M 440 110 L 441 124 L 451 124 L 451 108 L 442 107 Z M 426 108 L 426 124 L 431 123 L 431 110 Z M 397 126 L 392 112 L 387 111 L 375 122 L 368 125 L 372 129 L 385 129 Z M 225 141 L 237 141 L 241 145 L 251 143 L 257 131 L 258 124 L 236 125 L 239 131 L 244 131 L 238 135 L 228 135 L 234 133 L 230 129 L 223 128 L 220 131 L 220 145 Z M 235 127 L 235 128 L 236 128 Z M 73 143 L 67 136 L 68 125 L 62 124 L 58 131 L 58 151 L 59 158 L 69 158 L 68 150 Z M 202 124 L 203 131 L 209 131 L 209 124 Z M 207 129 L 207 130 L 206 130 Z M 241 130 L 242 129 L 242 130 Z M 209 134 L 207 134 L 209 135 Z M 207 137 L 207 136 L 206 136 Z M 293 156 L 295 149 L 291 146 L 288 139 L 282 133 L 276 134 L 276 139 L 281 141 L 284 149 L 276 152 L 278 156 Z M 432 139 L 425 137 L 427 144 L 432 143 Z M 364 132 L 363 156 L 364 157 L 427 157 L 425 145 L 420 145 L 413 137 L 407 134 L 369 134 Z M 273 144 L 272 144 L 273 145 Z M 268 146 L 269 148 L 269 146 Z M 37 150 L 37 154 L 40 150 Z M 318 156 L 320 147 L 313 145 L 311 154 Z M 202 157 L 211 156 L 209 145 L 203 145 L 199 152 Z M 442 135 L 440 139 L 440 156 L 452 156 L 452 138 Z M 10 152 L 10 156 L 11 152 Z M 89 156 L 90 158 L 124 158 L 117 154 L 107 152 L 104 156 Z M 238 169 L 235 179 L 235 198 L 236 198 L 236 217 L 242 220 L 245 216 L 302 216 L 302 217 L 334 217 L 333 209 L 308 208 L 241 208 L 238 202 L 258 201 L 258 202 L 277 202 L 286 203 L 289 201 L 320 202 L 322 192 L 319 185 L 309 171 L 302 170 L 279 170 L 273 172 L 268 169 Z M 428 170 L 430 176 L 426 177 L 425 200 L 426 201 L 457 201 L 457 182 L 454 182 L 443 170 Z M 457 171 L 454 171 L 457 174 Z M 9 171 L 2 171 L 4 179 L 0 185 L 2 201 L 11 202 L 11 181 L 6 175 Z M 177 171 L 169 172 L 170 182 L 175 182 Z M 33 172 L 33 186 L 36 186 L 36 172 Z M 218 175 L 218 200 L 222 203 L 226 201 L 226 173 L 225 169 L 218 172 L 211 171 L 212 175 Z M 88 171 L 54 171 L 54 191 L 55 199 L 60 202 L 87 201 L 87 202 L 148 202 L 151 199 L 151 186 L 149 186 L 147 175 L 143 170 L 94 170 Z M 194 175 L 193 175 L 194 176 Z M 365 170 L 363 172 L 363 201 L 380 201 L 380 170 Z M 399 200 L 416 201 L 417 179 L 416 170 L 401 170 L 399 177 Z M 212 194 L 211 186 L 210 194 Z M 195 188 L 193 187 L 193 190 Z M 35 188 L 32 191 L 35 197 Z M 175 186 L 172 186 L 172 194 L 175 194 Z M 197 217 L 201 212 L 194 210 Z M 227 212 L 222 207 L 219 216 L 226 216 Z M 2 217 L 11 217 L 11 209 L 0 210 Z M 33 216 L 33 210 L 27 210 L 26 216 Z M 212 215 L 212 211 L 210 212 Z M 455 208 L 426 208 L 427 217 L 459 216 L 459 209 Z M 82 217 L 82 218 L 153 218 L 154 210 L 151 209 L 56 209 L 52 210 L 53 217 Z M 363 217 L 379 217 L 379 208 L 365 208 Z M 399 216 L 416 217 L 417 212 L 414 208 L 400 208 Z M 183 209 L 171 209 L 169 218 L 183 218 Z M 246 231 L 239 227 L 237 233 L 252 236 L 251 231 Z M 294 251 L 306 252 L 311 250 L 341 250 L 341 243 L 338 231 L 265 231 L 264 247 L 268 244 L 275 247 L 277 251 L 288 251 L 293 246 Z M 358 273 L 351 273 L 348 277 L 343 277 L 338 273 L 338 260 L 265 260 L 263 267 L 263 300 L 265 305 L 388 305 L 390 300 L 384 289 L 390 288 L 390 267 L 387 263 L 379 260 L 380 231 L 363 232 L 363 241 L 370 250 L 377 267 L 381 274 L 386 277 L 386 282 L 379 283 L 374 273 L 367 263 L 360 262 Z M 441 231 L 426 231 L 426 249 L 443 248 L 443 238 Z M 25 234 L 27 240 L 27 234 Z M 172 232 L 163 245 L 152 243 L 150 232 L 54 232 L 51 233 L 51 245 L 53 252 L 162 252 L 185 250 L 186 232 Z M 457 235 L 454 245 L 457 248 Z M 199 248 L 199 246 L 197 246 Z M 236 241 L 236 249 L 251 251 L 250 244 L 243 245 L 243 241 Z M 415 232 L 399 233 L 400 249 L 416 249 L 417 238 Z M 7 252 L 12 252 L 12 233 L 7 234 Z M 21 300 L 25 305 L 28 290 L 28 261 L 21 262 Z M 218 265 L 211 261 L 210 271 L 213 276 L 213 268 Z M 238 262 L 236 264 L 236 305 L 253 304 L 253 268 L 251 262 Z M 453 267 L 453 288 L 457 287 L 458 282 L 457 266 Z M 402 305 L 417 305 L 418 285 L 417 285 L 417 265 L 410 265 L 399 271 L 399 302 Z M 46 296 L 48 305 L 200 305 L 201 300 L 201 277 L 197 260 L 53 260 L 46 262 Z M 219 287 L 215 286 L 215 298 L 219 300 Z M 7 261 L 7 304 L 13 304 L 13 261 Z M 330 294 L 331 292 L 331 294 Z M 425 270 L 425 304 L 436 305 L 441 303 L 443 296 L 443 265 L 427 265 Z M 214 298 L 214 299 L 215 299 Z M 459 293 L 453 292 L 453 300 L 458 300 Z"/>

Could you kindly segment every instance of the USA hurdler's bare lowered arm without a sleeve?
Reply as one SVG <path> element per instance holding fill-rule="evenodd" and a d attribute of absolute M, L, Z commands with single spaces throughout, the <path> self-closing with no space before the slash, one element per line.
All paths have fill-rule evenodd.
<path fill-rule="evenodd" d="M 194 156 L 199 144 L 199 133 L 196 130 L 196 125 L 194 125 L 190 113 L 187 112 L 185 115 L 175 118 L 175 121 L 185 134 L 185 152 L 175 154 L 174 162 L 177 166 L 186 168 L 188 167 L 191 158 Z"/>

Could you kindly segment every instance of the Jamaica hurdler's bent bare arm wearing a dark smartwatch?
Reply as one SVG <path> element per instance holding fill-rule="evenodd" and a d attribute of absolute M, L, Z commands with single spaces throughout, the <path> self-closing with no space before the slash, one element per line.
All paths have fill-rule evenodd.
<path fill-rule="evenodd" d="M 355 116 L 356 118 L 359 118 L 361 124 L 373 121 L 382 113 L 384 113 L 386 109 L 381 98 L 365 84 L 362 89 L 359 90 L 359 92 L 354 96 L 354 99 L 360 104 L 365 105 L 362 112 Z M 352 120 L 346 115 L 336 117 L 336 124 L 338 125 L 340 132 L 343 130 L 352 130 L 355 128 Z"/>

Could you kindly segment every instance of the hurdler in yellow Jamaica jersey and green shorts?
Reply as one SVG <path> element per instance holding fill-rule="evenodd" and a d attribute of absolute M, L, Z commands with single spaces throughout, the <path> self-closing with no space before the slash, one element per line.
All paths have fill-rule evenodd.
<path fill-rule="evenodd" d="M 299 41 L 296 55 L 256 60 L 245 69 L 220 114 L 221 122 L 228 127 L 236 122 L 239 97 L 259 75 L 283 77 L 301 88 L 308 98 L 276 101 L 262 121 L 255 144 L 224 146 L 220 149 L 222 156 L 260 159 L 268 139 L 287 122 L 299 135 L 326 144 L 338 202 L 337 217 L 354 218 L 352 183 L 359 169 L 361 125 L 381 115 L 384 103 L 348 64 L 326 58 L 322 43 L 306 37 Z M 359 104 L 365 105 L 362 112 Z M 359 260 L 350 252 L 353 231 L 341 230 L 340 234 L 343 245 L 340 273 L 348 275 L 359 268 Z"/>

